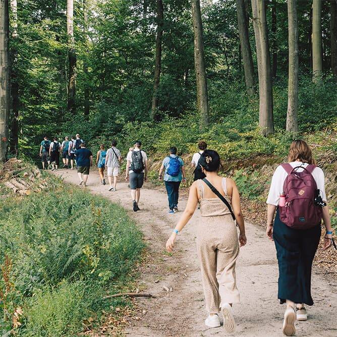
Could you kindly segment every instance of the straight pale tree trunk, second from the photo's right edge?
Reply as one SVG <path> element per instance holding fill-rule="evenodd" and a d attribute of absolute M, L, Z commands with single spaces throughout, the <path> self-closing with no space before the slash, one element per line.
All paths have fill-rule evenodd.
<path fill-rule="evenodd" d="M 312 80 L 319 82 L 323 74 L 322 60 L 322 2 L 313 0 L 312 2 Z"/>

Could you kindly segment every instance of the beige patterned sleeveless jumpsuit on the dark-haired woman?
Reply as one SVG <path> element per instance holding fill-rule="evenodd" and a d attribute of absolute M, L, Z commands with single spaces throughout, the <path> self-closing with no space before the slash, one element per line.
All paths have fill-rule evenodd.
<path fill-rule="evenodd" d="M 235 264 L 239 255 L 239 240 L 236 224 L 228 207 L 218 198 L 204 198 L 201 180 L 197 181 L 201 196 L 202 220 L 197 227 L 197 250 L 201 265 L 202 285 L 206 309 L 217 313 L 224 303 L 238 303 L 240 294 L 236 286 Z M 227 180 L 222 188 L 227 200 Z"/>

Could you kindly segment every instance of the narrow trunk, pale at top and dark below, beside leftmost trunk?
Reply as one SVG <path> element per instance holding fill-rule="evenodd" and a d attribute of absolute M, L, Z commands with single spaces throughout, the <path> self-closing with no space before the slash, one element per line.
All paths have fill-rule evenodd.
<path fill-rule="evenodd" d="M 10 137 L 10 152 L 17 155 L 19 143 L 19 83 L 18 83 L 18 50 L 16 48 L 16 38 L 18 36 L 18 5 L 17 0 L 11 0 L 12 11 L 12 39 L 13 46 L 11 48 L 11 96 L 12 96 L 12 125 Z"/>

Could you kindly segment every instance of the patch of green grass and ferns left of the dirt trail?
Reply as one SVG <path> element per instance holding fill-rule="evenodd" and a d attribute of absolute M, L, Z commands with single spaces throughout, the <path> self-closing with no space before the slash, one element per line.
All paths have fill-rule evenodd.
<path fill-rule="evenodd" d="M 126 211 L 48 177 L 49 188 L 0 205 L 0 331 L 73 336 L 125 291 L 144 248 Z M 90 323 L 91 324 L 91 323 Z"/>

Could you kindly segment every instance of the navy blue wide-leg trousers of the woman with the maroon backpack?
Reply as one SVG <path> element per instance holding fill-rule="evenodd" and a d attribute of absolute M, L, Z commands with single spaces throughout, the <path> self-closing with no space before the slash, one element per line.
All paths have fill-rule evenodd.
<path fill-rule="evenodd" d="M 279 219 L 274 221 L 273 239 L 278 261 L 278 299 L 313 305 L 311 267 L 321 235 L 320 224 L 308 230 L 293 230 Z"/>

